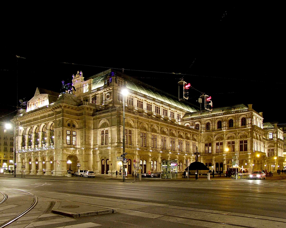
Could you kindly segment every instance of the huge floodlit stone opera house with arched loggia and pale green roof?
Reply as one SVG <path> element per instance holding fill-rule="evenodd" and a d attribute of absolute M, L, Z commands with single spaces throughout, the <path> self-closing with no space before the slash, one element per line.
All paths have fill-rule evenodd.
<path fill-rule="evenodd" d="M 142 173 L 183 172 L 186 161 L 194 161 L 195 152 L 200 153 L 199 161 L 217 172 L 225 172 L 233 159 L 249 171 L 276 169 L 271 166 L 274 156 L 276 164 L 283 164 L 281 143 L 265 136 L 262 113 L 252 105 L 198 111 L 198 107 L 112 69 L 86 80 L 78 72 L 73 75 L 73 85 L 74 94 L 37 88 L 27 109 L 13 119 L 17 122 L 17 172 L 24 165 L 26 174 L 41 175 L 46 169 L 45 175 L 54 170 L 52 175 L 61 176 L 67 174 L 67 161 L 73 170 L 80 163 L 81 169 L 96 174 L 121 170 L 121 91 L 125 87 L 129 94 L 124 136 L 130 174 L 134 161 Z M 280 130 L 272 133 L 282 136 Z M 272 154 L 276 146 L 280 149 Z M 269 155 L 266 149 L 270 149 Z"/>

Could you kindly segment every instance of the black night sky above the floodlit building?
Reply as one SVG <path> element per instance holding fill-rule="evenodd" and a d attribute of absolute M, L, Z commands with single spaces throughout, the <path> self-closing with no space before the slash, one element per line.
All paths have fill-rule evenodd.
<path fill-rule="evenodd" d="M 127 75 L 175 96 L 183 77 L 194 88 L 193 104 L 199 105 L 204 92 L 214 108 L 253 104 L 264 122 L 285 123 L 285 26 L 279 5 L 135 8 L 61 12 L 57 18 L 38 13 L 7 27 L 0 49 L 0 116 L 13 112 L 17 100 L 31 99 L 37 87 L 59 92 L 61 80 L 71 80 L 77 71 L 90 77 L 124 68 Z"/>

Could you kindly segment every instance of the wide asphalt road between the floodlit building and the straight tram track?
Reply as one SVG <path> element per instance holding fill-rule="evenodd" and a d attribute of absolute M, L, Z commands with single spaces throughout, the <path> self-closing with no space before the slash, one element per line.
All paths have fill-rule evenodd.
<path fill-rule="evenodd" d="M 188 210 L 225 212 L 221 214 L 239 213 L 254 217 L 267 216 L 282 220 L 286 219 L 286 213 L 283 213 L 286 203 L 286 175 L 274 175 L 272 178 L 267 178 L 266 180 L 231 180 L 221 178 L 217 181 L 200 179 L 199 181 L 121 182 L 98 180 L 96 178 L 53 180 L 53 178 L 42 179 L 39 177 L 36 179 L 0 177 L 0 181 L 0 190 L 13 188 L 27 190 L 36 195 L 37 193 L 41 194 L 41 197 L 44 196 L 45 198 L 43 200 L 45 203 L 42 206 L 47 208 L 49 207 L 49 200 L 47 199 L 49 197 L 53 198 L 51 195 L 61 194 L 65 196 L 76 195 L 76 197 L 99 197 L 115 201 L 130 200 L 136 202 L 134 204 L 137 205 L 148 204 L 150 206 L 151 204 L 162 204 L 172 208 L 183 207 Z M 153 209 L 149 208 L 148 210 L 151 211 Z M 123 217 L 126 216 L 126 219 L 130 218 L 127 215 Z M 114 217 L 118 217 L 118 213 Z M 118 217 L 117 219 L 121 220 L 122 218 Z M 88 217 L 78 220 L 89 221 L 90 219 Z M 140 222 L 139 217 L 134 218 L 134 221 L 137 220 Z M 162 225 L 162 223 L 159 224 Z M 167 224 L 165 224 L 165 227 L 173 227 Z M 111 225 L 111 223 L 108 223 L 108 225 Z M 286 226 L 286 220 L 283 225 Z M 191 227 L 200 226 L 194 225 Z M 206 225 L 202 227 L 212 226 Z M 259 224 L 256 227 L 260 227 Z"/>

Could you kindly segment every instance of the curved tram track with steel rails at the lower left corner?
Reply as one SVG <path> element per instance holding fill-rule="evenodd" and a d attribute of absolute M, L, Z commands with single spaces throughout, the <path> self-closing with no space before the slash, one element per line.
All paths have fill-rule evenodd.
<path fill-rule="evenodd" d="M 5 190 L 1 190 L 0 193 L 3 195 L 3 200 L 0 202 L 0 210 L 7 210 L 9 211 L 11 208 L 15 208 L 17 206 L 19 206 L 19 202 L 23 202 L 22 200 L 19 200 L 17 203 L 17 198 L 19 197 L 19 195 L 22 197 L 23 195 L 27 195 L 27 196 L 31 196 L 33 197 L 33 200 L 29 200 L 32 201 L 32 203 L 29 203 L 30 206 L 28 206 L 25 210 L 21 210 L 19 211 L 15 217 L 13 218 L 8 218 L 7 221 L 5 221 L 4 223 L 0 224 L 0 228 L 6 227 L 7 225 L 10 225 L 11 223 L 15 222 L 17 219 L 21 218 L 22 216 L 24 216 L 25 214 L 27 214 L 29 211 L 31 211 L 38 202 L 38 198 L 37 196 L 35 196 L 34 194 L 27 192 L 25 190 L 21 190 L 21 189 L 14 189 L 14 188 L 4 188 Z M 11 192 L 11 190 L 15 191 L 15 192 Z M 9 195 L 13 195 L 11 196 L 11 202 L 9 202 L 9 195 L 7 195 L 5 192 L 9 191 Z M 18 192 L 18 193 L 17 193 Z M 9 214 L 9 213 L 8 213 Z M 14 213 L 12 213 L 14 214 Z M 10 216 L 8 216 L 10 217 Z"/>

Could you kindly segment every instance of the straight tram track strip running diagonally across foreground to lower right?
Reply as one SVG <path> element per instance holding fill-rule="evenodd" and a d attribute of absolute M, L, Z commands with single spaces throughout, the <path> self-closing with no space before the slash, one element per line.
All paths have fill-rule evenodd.
<path fill-rule="evenodd" d="M 37 192 L 33 191 L 35 196 L 50 199 L 51 201 L 59 200 L 59 198 L 53 198 L 51 192 Z M 39 194 L 37 194 L 39 193 Z M 45 194 L 45 196 L 43 195 Z M 62 200 L 68 200 L 69 202 L 81 202 L 90 206 L 101 206 L 106 208 L 114 208 L 117 213 L 123 213 L 126 215 L 134 215 L 140 217 L 148 217 L 153 219 L 161 219 L 165 221 L 176 221 L 182 224 L 194 224 L 201 227 L 285 227 L 286 219 L 278 217 L 268 217 L 259 215 L 250 215 L 242 213 L 233 213 L 227 211 L 215 211 L 206 210 L 200 208 L 189 208 L 183 206 L 172 206 L 168 204 L 157 204 L 149 202 L 138 202 L 132 200 L 102 198 L 94 196 L 79 196 L 68 194 L 69 198 L 65 196 Z M 84 200 L 82 200 L 84 199 Z M 91 203 L 94 199 L 94 202 Z M 107 206 L 108 205 L 108 206 Z M 110 206 L 113 205 L 113 206 Z M 110 215 L 109 215 L 110 216 Z M 258 225 L 257 225 L 258 224 Z M 0 227 L 1 228 L 1 227 Z"/>

